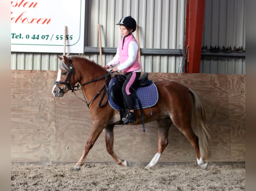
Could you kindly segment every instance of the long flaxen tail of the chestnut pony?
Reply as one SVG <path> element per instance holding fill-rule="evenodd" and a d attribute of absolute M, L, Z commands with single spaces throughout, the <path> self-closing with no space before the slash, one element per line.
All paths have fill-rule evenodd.
<path fill-rule="evenodd" d="M 199 138 L 200 155 L 203 159 L 207 159 L 210 155 L 208 142 L 210 140 L 209 128 L 205 122 L 205 110 L 202 100 L 198 94 L 189 88 L 189 93 L 193 98 L 193 118 L 195 121 L 195 134 Z"/>

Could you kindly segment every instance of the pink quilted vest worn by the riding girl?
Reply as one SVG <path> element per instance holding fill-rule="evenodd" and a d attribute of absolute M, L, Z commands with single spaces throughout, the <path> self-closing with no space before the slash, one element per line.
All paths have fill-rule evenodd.
<path fill-rule="evenodd" d="M 119 42 L 118 49 L 119 49 L 119 56 L 120 56 L 120 60 L 119 60 L 120 65 L 123 64 L 128 59 L 128 46 L 131 41 L 135 41 L 138 44 L 138 42 L 133 37 L 133 35 L 129 35 L 128 37 L 125 37 L 124 46 L 123 46 L 123 38 Z M 122 49 L 122 46 L 123 46 L 123 49 Z M 137 52 L 137 56 L 134 63 L 130 67 L 122 70 L 122 73 L 128 73 L 128 72 L 132 72 L 140 69 L 140 63 L 138 61 L 138 58 L 139 58 L 139 51 Z"/>

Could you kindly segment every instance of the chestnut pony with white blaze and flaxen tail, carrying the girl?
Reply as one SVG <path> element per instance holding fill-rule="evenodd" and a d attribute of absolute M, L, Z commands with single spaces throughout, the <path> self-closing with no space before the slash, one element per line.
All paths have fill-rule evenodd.
<path fill-rule="evenodd" d="M 58 58 L 61 61 L 52 94 L 55 97 L 62 97 L 69 90 L 73 92 L 75 87 L 81 87 L 93 120 L 93 127 L 85 145 L 85 150 L 74 169 L 81 169 L 89 151 L 102 131 L 104 132 L 108 153 L 117 164 L 129 166 L 129 162 L 120 159 L 113 150 L 113 129 L 121 119 L 119 110 L 113 109 L 107 100 L 106 89 L 111 79 L 110 72 L 84 56 L 73 55 Z M 80 85 L 75 85 L 77 83 Z M 171 124 L 174 124 L 193 145 L 196 151 L 197 163 L 205 169 L 207 163 L 204 160 L 209 156 L 208 140 L 210 136 L 200 98 L 196 92 L 176 82 L 161 81 L 155 82 L 155 85 L 158 90 L 158 102 L 151 108 L 144 108 L 143 117 L 145 123 L 157 121 L 158 149 L 145 168 L 152 169 L 156 165 L 168 144 L 169 128 Z M 151 110 L 153 115 L 150 114 Z M 138 109 L 135 110 L 135 115 L 137 118 L 135 124 L 142 124 Z M 191 127 L 192 117 L 195 121 L 195 133 L 197 135 Z M 128 125 L 135 124 L 129 123 Z"/>

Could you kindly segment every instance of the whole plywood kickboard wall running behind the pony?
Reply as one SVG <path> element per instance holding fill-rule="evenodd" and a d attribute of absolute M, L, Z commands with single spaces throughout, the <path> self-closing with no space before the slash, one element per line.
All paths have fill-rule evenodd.
<path fill-rule="evenodd" d="M 56 71 L 12 71 L 12 160 L 77 161 L 89 137 L 89 108 L 71 92 L 51 94 Z M 210 127 L 209 161 L 245 161 L 245 75 L 149 73 L 153 81 L 172 80 L 201 96 Z M 81 92 L 76 94 L 83 98 Z M 115 127 L 114 150 L 131 162 L 149 162 L 157 150 L 156 122 Z M 172 125 L 159 161 L 196 161 L 193 147 Z M 48 150 L 47 150 L 48 149 Z M 103 133 L 86 161 L 114 162 Z"/>

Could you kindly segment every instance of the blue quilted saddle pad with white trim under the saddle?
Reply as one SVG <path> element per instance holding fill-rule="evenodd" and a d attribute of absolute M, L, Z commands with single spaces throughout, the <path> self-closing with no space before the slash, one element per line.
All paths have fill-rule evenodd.
<path fill-rule="evenodd" d="M 116 82 L 116 78 L 112 77 L 110 83 L 109 83 L 109 87 L 108 87 L 108 102 L 111 105 L 111 107 L 115 110 L 121 110 L 122 108 L 115 104 L 111 95 L 110 95 L 110 90 L 112 88 L 112 86 L 115 84 Z M 157 101 L 158 101 L 158 92 L 157 92 L 157 88 L 156 85 L 154 84 L 154 82 L 152 80 L 150 80 L 150 85 L 147 87 L 139 87 L 136 91 L 137 96 L 140 99 L 142 108 L 147 108 L 147 107 L 152 107 L 154 106 Z M 139 109 L 139 102 L 137 99 L 135 99 L 135 103 L 134 103 L 134 109 Z"/>

